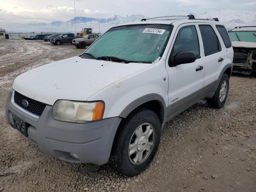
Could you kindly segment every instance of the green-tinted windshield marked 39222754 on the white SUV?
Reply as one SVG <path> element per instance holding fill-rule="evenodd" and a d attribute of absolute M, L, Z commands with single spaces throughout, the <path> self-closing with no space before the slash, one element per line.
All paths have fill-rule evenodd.
<path fill-rule="evenodd" d="M 114 27 L 104 33 L 85 53 L 116 57 L 129 62 L 154 62 L 162 56 L 172 25 L 140 24 Z"/>

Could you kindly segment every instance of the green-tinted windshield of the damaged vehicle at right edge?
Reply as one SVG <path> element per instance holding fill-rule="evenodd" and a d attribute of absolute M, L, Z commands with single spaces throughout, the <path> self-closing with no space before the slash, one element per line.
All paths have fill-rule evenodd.
<path fill-rule="evenodd" d="M 230 31 L 231 41 L 256 42 L 256 31 Z"/>

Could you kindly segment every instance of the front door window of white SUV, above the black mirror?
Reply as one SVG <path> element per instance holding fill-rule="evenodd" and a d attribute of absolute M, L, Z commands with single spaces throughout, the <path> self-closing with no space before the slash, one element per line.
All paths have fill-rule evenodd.
<path fill-rule="evenodd" d="M 178 32 L 173 46 L 174 55 L 179 52 L 192 51 L 196 58 L 200 56 L 199 42 L 195 26 L 183 27 Z"/>

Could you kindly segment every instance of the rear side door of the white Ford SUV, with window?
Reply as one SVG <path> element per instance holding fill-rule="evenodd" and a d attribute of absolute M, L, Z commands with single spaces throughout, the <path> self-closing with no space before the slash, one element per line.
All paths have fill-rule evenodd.
<path fill-rule="evenodd" d="M 210 23 L 199 24 L 200 34 L 203 42 L 205 74 L 205 92 L 215 91 L 216 83 L 220 75 L 221 64 L 225 58 L 226 50 L 222 50 L 218 31 Z"/>

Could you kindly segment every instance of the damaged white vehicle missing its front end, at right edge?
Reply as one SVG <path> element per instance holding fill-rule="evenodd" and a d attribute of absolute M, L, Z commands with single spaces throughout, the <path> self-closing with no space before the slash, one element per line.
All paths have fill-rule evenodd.
<path fill-rule="evenodd" d="M 256 72 L 256 26 L 240 26 L 228 33 L 234 48 L 233 72 Z"/>

